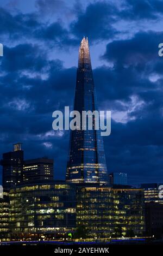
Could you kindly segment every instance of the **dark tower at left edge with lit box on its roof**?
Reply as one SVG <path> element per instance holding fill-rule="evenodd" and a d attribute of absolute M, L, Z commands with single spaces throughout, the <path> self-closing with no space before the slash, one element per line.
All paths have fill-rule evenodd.
<path fill-rule="evenodd" d="M 2 184 L 4 188 L 10 188 L 22 182 L 24 152 L 21 150 L 21 144 L 14 144 L 14 151 L 3 153 L 1 165 Z"/>

